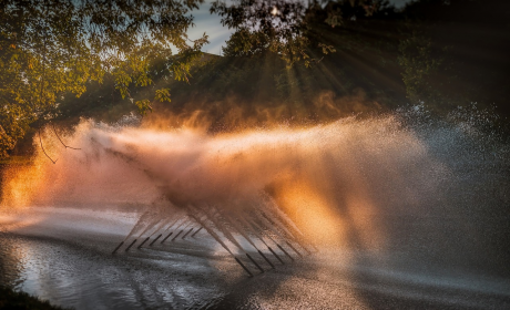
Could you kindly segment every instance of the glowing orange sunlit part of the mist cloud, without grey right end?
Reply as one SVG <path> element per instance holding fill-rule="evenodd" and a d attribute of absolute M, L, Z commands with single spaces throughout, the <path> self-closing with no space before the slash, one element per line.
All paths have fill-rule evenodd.
<path fill-rule="evenodd" d="M 63 137 L 81 151 L 44 135 L 57 164 L 38 153 L 32 165 L 10 169 L 2 205 L 147 206 L 164 196 L 173 205 L 228 211 L 263 207 L 264 193 L 307 239 L 379 250 L 386 236 L 378 214 L 397 198 L 411 204 L 417 193 L 402 192 L 407 178 L 417 178 L 406 161 L 434 165 L 419 140 L 391 117 L 216 135 L 159 124 L 154 130 L 83 122 Z M 429 177 L 418 177 L 422 190 Z"/>

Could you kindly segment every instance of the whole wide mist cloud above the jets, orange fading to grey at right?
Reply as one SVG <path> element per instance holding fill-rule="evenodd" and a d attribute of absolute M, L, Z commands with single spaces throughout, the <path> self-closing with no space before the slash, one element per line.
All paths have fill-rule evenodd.
<path fill-rule="evenodd" d="M 507 272 L 510 148 L 480 125 L 486 116 L 456 112 L 435 120 L 417 106 L 313 127 L 216 135 L 88 121 L 64 137 L 81 152 L 43 135 L 58 163 L 38 154 L 32 166 L 8 174 L 2 204 L 141 206 L 150 210 L 144 223 L 198 207 L 249 214 L 274 204 L 316 244 L 391 252 L 419 240 L 418 255 L 484 260 Z M 167 204 L 147 207 L 161 197 Z M 432 234 L 394 225 L 398 217 L 449 218 L 456 228 Z M 135 228 L 132 234 L 144 227 Z M 467 255 L 459 258 L 461 249 Z"/>

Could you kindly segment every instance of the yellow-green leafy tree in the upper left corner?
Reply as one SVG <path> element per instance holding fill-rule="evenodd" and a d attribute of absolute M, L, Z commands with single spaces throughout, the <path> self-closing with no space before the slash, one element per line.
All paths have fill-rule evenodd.
<path fill-rule="evenodd" d="M 151 65 L 187 80 L 207 42 L 190 40 L 188 12 L 203 0 L 3 0 L 0 2 L 0 157 L 28 126 L 55 117 L 64 94 L 80 96 L 108 72 L 131 97 L 131 85 L 152 83 Z M 141 114 L 169 90 L 134 102 Z"/>

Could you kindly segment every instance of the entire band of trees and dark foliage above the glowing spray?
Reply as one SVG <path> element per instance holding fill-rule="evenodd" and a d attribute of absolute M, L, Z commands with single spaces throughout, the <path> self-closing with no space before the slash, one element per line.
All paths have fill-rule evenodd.
<path fill-rule="evenodd" d="M 470 100 L 510 114 L 508 1 L 416 0 L 402 11 L 387 0 L 215 1 L 211 12 L 235 30 L 224 58 L 201 56 L 205 34 L 185 35 L 200 2 L 0 2 L 0 156 L 30 126 L 133 107 L 217 116 L 242 106 L 243 117 L 267 107 L 285 118 L 319 115 L 323 102 L 334 117 L 363 111 L 347 106 L 359 101 Z M 340 100 L 350 96 L 358 103 Z"/>

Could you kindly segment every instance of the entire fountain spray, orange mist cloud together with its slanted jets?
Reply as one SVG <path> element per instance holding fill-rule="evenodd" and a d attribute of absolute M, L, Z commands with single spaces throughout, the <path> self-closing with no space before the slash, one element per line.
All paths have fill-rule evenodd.
<path fill-rule="evenodd" d="M 479 137 L 488 136 L 482 133 L 479 137 L 466 135 L 465 128 L 458 127 L 460 124 L 455 120 L 455 127 L 451 127 L 455 131 L 450 131 L 449 122 L 431 123 L 431 127 L 416 127 L 409 124 L 411 126 L 408 127 L 407 116 L 404 120 L 401 116 L 380 116 L 363 122 L 345 120 L 299 130 L 248 128 L 246 132 L 225 135 L 186 130 L 183 131 L 184 134 L 180 131 L 157 132 L 144 127 L 110 130 L 108 125 L 99 126 L 89 122 L 81 125 L 72 142 L 81 143 L 84 146 L 83 152 L 79 155 L 70 154 L 69 151 L 59 154 L 59 158 L 65 158 L 59 159 L 59 163 L 65 165 L 49 165 L 51 167 L 43 167 L 42 170 L 28 170 L 37 176 L 34 182 L 39 185 L 31 186 L 33 189 L 26 189 L 26 194 L 29 195 L 29 202 L 33 202 L 34 205 L 47 202 L 81 202 L 86 205 L 92 200 L 104 206 L 120 200 L 137 205 L 136 208 L 142 210 L 139 220 L 112 254 L 120 252 L 124 245 L 129 245 L 124 247 L 125 251 L 129 251 L 136 246 L 137 239 L 145 239 L 150 232 L 152 234 L 147 238 L 152 239 L 152 242 L 146 240 L 140 247 L 145 244 L 153 246 L 156 241 L 164 244 L 177 235 L 187 221 L 187 214 L 197 218 L 201 226 L 182 229 L 177 237 L 194 238 L 205 228 L 236 261 L 239 261 L 238 264 L 246 265 L 242 266 L 244 269 L 248 267 L 249 270 L 253 268 L 249 266 L 251 262 L 247 262 L 249 258 L 238 255 L 241 251 L 234 248 L 238 246 L 235 239 L 241 240 L 241 235 L 257 246 L 257 252 L 265 254 L 261 256 L 266 261 L 269 252 L 263 252 L 266 250 L 264 246 L 282 264 L 284 260 L 288 262 L 284 256 L 297 260 L 306 252 L 317 250 L 313 242 L 319 238 L 325 238 L 324 241 L 330 241 L 332 245 L 343 241 L 340 238 L 347 241 L 356 238 L 366 248 L 385 246 L 388 238 L 388 241 L 391 241 L 388 246 L 392 246 L 392 234 L 399 232 L 391 229 L 386 231 L 385 225 L 388 223 L 378 219 L 378 213 L 400 213 L 402 208 L 411 214 L 415 211 L 414 208 L 421 211 L 421 207 L 429 204 L 431 207 L 436 206 L 439 200 L 446 202 L 445 206 L 456 206 L 460 200 L 450 200 L 456 196 L 450 194 L 465 193 L 465 188 L 452 187 L 453 192 L 450 193 L 449 187 L 448 190 L 438 187 L 447 184 L 445 182 L 450 180 L 450 177 L 456 179 L 458 176 L 471 176 L 471 168 L 476 168 L 477 172 L 488 168 L 471 166 L 472 161 L 469 161 L 469 165 L 462 162 L 468 158 L 482 161 L 476 154 L 462 157 L 461 161 L 455 158 L 462 155 L 455 151 L 456 148 L 465 149 L 466 146 L 476 146 L 480 142 L 480 154 L 492 156 L 491 153 L 497 152 L 493 155 L 494 161 L 498 161 L 493 167 L 496 173 L 500 168 L 497 163 L 508 162 L 508 155 L 504 155 L 508 153 L 507 144 L 504 149 L 499 149 L 498 145 L 492 147 L 484 144 Z M 436 135 L 438 131 L 440 135 Z M 455 142 L 451 144 L 452 140 Z M 429 149 L 441 152 L 436 154 L 428 152 Z M 475 153 L 478 154 L 478 151 Z M 133 158 L 136 161 L 135 164 L 131 164 Z M 86 165 L 82 164 L 84 159 Z M 467 166 L 463 166 L 465 164 Z M 504 164 L 502 167 L 507 168 L 508 165 Z M 366 176 L 366 172 L 370 173 L 369 177 Z M 492 174 L 492 170 L 490 173 Z M 16 174 L 13 180 L 23 180 L 22 176 L 27 175 Z M 480 179 L 490 179 L 482 172 L 472 176 L 488 177 L 469 179 L 472 186 L 479 184 Z M 49 182 L 50 179 L 54 182 Z M 441 182 L 438 183 L 438 179 Z M 76 184 L 80 186 L 75 186 Z M 401 185 L 406 185 L 405 193 Z M 14 189 L 26 188 L 21 185 L 16 186 Z M 86 196 L 90 193 L 96 193 L 93 199 Z M 435 196 L 436 194 L 439 196 Z M 165 202 L 159 202 L 156 205 L 153 204 L 149 211 L 142 209 L 146 202 L 159 196 L 167 199 L 169 206 L 164 205 Z M 483 197 L 480 196 L 480 202 Z M 178 202 L 178 206 L 174 202 Z M 238 208 L 228 207 L 233 202 L 238 204 Z M 478 202 L 476 200 L 477 204 Z M 501 202 L 498 200 L 499 204 Z M 249 216 L 245 216 L 245 221 L 249 225 L 236 220 L 231 220 L 233 225 L 225 225 L 225 215 L 216 215 L 208 207 L 205 211 L 200 211 L 193 206 L 202 207 L 205 203 L 215 204 L 218 210 L 227 215 L 235 215 L 236 211 L 245 215 L 246 211 Z M 188 204 L 192 205 L 190 211 L 183 207 Z M 160 208 L 161 206 L 164 208 Z M 166 211 L 173 207 L 176 211 L 167 214 Z M 443 209 L 441 206 L 437 207 Z M 293 223 L 294 217 L 286 213 L 288 208 L 294 208 L 306 225 L 296 226 L 298 223 Z M 304 209 L 307 213 L 299 213 Z M 306 218 L 308 213 L 312 220 Z M 339 217 L 341 214 L 351 216 L 349 225 L 339 227 L 343 223 L 343 218 Z M 157 221 L 159 218 L 163 221 Z M 238 232 L 233 229 L 235 224 L 241 226 L 237 227 Z M 245 226 L 251 227 L 254 232 Z M 166 227 L 167 231 L 162 231 L 161 227 Z M 305 227 L 306 230 L 299 230 Z M 307 234 L 304 235 L 302 231 Z M 308 236 L 312 231 L 313 235 Z M 132 242 L 129 239 L 132 239 Z M 234 254 L 226 246 L 232 247 Z M 242 246 L 251 250 L 249 255 L 253 254 L 252 247 L 244 240 Z M 289 255 L 293 250 L 296 258 Z M 238 258 L 235 257 L 237 255 Z M 263 266 L 262 260 L 256 259 Z"/>

